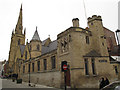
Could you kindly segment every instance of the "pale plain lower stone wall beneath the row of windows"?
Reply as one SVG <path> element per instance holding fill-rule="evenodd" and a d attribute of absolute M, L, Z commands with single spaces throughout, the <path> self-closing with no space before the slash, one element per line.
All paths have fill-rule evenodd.
<path fill-rule="evenodd" d="M 29 74 L 23 74 L 21 78 L 23 79 L 23 81 L 29 82 Z M 60 88 L 61 72 L 47 71 L 47 72 L 30 73 L 30 82 L 35 84 Z"/>

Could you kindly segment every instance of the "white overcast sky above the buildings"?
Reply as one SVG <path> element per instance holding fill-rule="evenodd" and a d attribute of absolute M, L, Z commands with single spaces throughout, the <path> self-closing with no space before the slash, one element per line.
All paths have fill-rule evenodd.
<path fill-rule="evenodd" d="M 103 25 L 118 29 L 119 0 L 84 0 L 87 17 L 100 15 Z M 21 3 L 23 5 L 23 27 L 30 41 L 36 26 L 43 41 L 72 26 L 72 19 L 79 18 L 80 27 L 87 27 L 83 0 L 0 0 L 0 60 L 8 60 L 12 30 L 17 24 Z"/>

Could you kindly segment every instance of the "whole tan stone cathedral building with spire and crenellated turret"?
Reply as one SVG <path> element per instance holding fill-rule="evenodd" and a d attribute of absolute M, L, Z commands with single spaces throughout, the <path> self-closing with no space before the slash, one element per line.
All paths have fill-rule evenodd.
<path fill-rule="evenodd" d="M 31 41 L 25 42 L 21 5 L 11 37 L 8 73 L 18 74 L 25 82 L 63 88 L 61 63 L 66 61 L 66 85 L 71 88 L 99 88 L 101 77 L 110 82 L 118 80 L 118 64 L 110 62 L 101 16 L 89 17 L 87 28 L 79 26 L 78 18 L 72 22 L 73 26 L 59 33 L 54 41 L 50 37 L 41 41 L 36 27 Z"/>

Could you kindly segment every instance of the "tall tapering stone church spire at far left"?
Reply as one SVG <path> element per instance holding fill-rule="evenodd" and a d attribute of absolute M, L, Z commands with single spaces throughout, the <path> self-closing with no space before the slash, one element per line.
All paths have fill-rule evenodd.
<path fill-rule="evenodd" d="M 15 33 L 22 34 L 22 30 L 23 30 L 23 26 L 22 26 L 22 4 L 21 4 L 18 22 L 15 28 Z"/>

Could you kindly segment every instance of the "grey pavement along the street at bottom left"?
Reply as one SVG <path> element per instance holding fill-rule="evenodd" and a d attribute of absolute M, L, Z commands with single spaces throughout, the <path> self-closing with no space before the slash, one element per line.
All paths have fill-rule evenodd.
<path fill-rule="evenodd" d="M 2 88 L 2 90 L 6 90 L 10 89 L 13 90 L 17 88 L 28 88 L 28 89 L 32 89 L 32 90 L 36 90 L 36 89 L 51 89 L 51 90 L 62 90 L 62 89 L 58 89 L 58 88 L 54 88 L 54 87 L 49 87 L 49 86 L 45 86 L 45 85 L 39 85 L 39 84 L 33 84 L 31 83 L 31 86 L 28 86 L 28 82 L 22 82 L 22 84 L 17 84 L 16 81 L 12 82 L 11 79 L 0 79 L 0 89 Z M 12 89 L 11 89 L 12 88 Z M 26 90 L 26 89 L 25 89 Z"/>

